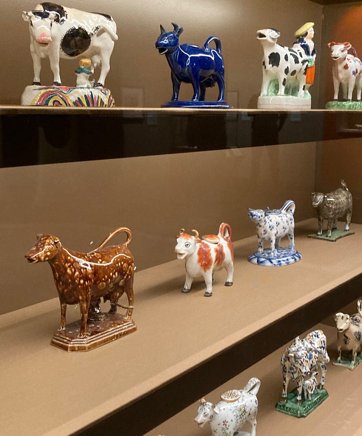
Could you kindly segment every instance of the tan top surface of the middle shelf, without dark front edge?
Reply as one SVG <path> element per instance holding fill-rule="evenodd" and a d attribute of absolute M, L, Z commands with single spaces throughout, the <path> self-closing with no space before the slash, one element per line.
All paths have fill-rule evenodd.
<path fill-rule="evenodd" d="M 297 224 L 296 248 L 303 258 L 288 267 L 248 263 L 256 236 L 237 241 L 234 285 L 224 287 L 226 273 L 216 273 L 212 298 L 204 298 L 201 279 L 189 294 L 180 292 L 182 261 L 136 273 L 137 331 L 91 352 L 66 353 L 49 344 L 60 318 L 57 298 L 1 316 L 2 435 L 78 431 L 360 275 L 362 225 L 353 224 L 355 235 L 337 242 L 308 238 L 316 227 L 315 219 Z M 51 274 L 47 265 L 24 268 L 48 268 Z M 67 322 L 78 317 L 78 307 L 68 306 Z"/>

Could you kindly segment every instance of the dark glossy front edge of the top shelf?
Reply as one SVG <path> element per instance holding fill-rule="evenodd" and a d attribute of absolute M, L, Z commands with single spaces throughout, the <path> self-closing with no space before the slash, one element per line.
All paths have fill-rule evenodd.
<path fill-rule="evenodd" d="M 340 128 L 348 119 L 344 111 L 325 110 L 1 106 L 0 166 L 349 138 L 348 128 Z M 362 125 L 361 111 L 353 111 L 356 124 Z"/>

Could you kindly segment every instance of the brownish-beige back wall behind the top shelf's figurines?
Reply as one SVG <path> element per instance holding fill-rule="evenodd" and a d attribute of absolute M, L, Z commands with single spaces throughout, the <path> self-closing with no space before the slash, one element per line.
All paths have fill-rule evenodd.
<path fill-rule="evenodd" d="M 33 81 L 28 24 L 21 14 L 35 6 L 36 2 L 31 0 L 2 5 L 0 104 L 19 104 L 23 89 Z M 116 21 L 119 40 L 106 84 L 117 106 L 159 107 L 170 99 L 170 70 L 166 59 L 154 46 L 160 24 L 166 30 L 172 29 L 171 22 L 184 27 L 181 43 L 202 46 L 211 35 L 221 39 L 226 92 L 236 93 L 230 98 L 239 108 L 256 108 L 260 93 L 262 49 L 256 40 L 257 30 L 275 27 L 282 33 L 278 42 L 291 46 L 295 30 L 305 22 L 314 21 L 318 51 L 320 47 L 323 8 L 307 0 L 72 0 L 66 6 L 108 13 Z M 44 59 L 42 65 L 42 83 L 51 84 L 53 76 L 48 59 Z M 75 83 L 76 66 L 77 60 L 61 60 L 63 84 Z M 313 106 L 318 96 L 319 62 L 316 68 L 316 82 L 311 88 L 315 96 Z M 191 99 L 191 85 L 183 84 L 181 88 L 180 99 Z M 217 98 L 216 88 L 208 90 L 208 99 Z"/>

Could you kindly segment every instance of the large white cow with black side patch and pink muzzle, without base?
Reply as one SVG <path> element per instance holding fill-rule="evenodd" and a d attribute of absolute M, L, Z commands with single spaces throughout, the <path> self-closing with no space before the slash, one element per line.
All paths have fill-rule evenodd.
<path fill-rule="evenodd" d="M 40 85 L 41 58 L 49 57 L 53 85 L 59 86 L 59 58 L 83 56 L 91 58 L 94 66 L 101 65 L 95 86 L 104 86 L 114 41 L 118 39 L 117 26 L 111 16 L 41 3 L 34 11 L 24 11 L 23 19 L 29 23 L 33 84 Z"/>

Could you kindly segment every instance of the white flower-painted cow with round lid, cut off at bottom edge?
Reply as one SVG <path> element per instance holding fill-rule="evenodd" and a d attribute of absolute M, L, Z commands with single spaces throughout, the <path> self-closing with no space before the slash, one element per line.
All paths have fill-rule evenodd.
<path fill-rule="evenodd" d="M 216 405 L 202 398 L 199 400 L 195 421 L 199 427 L 209 422 L 213 436 L 240 434 L 237 431 L 248 421 L 251 425 L 250 436 L 256 436 L 256 394 L 259 387 L 260 380 L 253 377 L 243 389 L 233 389 L 222 394 Z"/>

